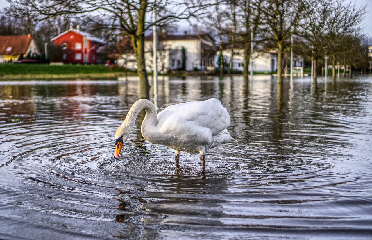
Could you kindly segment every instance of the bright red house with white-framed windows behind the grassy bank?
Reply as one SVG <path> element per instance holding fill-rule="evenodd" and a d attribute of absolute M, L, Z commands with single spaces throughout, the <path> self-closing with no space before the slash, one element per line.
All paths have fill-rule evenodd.
<path fill-rule="evenodd" d="M 97 51 L 106 44 L 90 33 L 79 30 L 79 25 L 52 38 L 54 45 L 61 45 L 65 50 L 62 54 L 64 63 L 97 63 Z"/>

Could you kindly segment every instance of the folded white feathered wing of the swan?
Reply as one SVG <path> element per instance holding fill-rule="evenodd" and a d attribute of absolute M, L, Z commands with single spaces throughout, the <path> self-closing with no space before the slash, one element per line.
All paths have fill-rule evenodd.
<path fill-rule="evenodd" d="M 160 128 L 184 128 L 198 131 L 209 129 L 212 135 L 219 134 L 230 126 L 230 115 L 217 99 L 171 105 L 158 113 Z"/>

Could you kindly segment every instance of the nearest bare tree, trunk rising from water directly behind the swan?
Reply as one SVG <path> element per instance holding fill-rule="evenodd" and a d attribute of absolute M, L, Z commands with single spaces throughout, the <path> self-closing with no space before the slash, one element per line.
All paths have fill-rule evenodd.
<path fill-rule="evenodd" d="M 95 15 L 102 28 L 112 32 L 129 34 L 132 38 L 140 77 L 141 97 L 149 98 L 150 85 L 144 57 L 145 32 L 154 24 L 164 26 L 174 19 L 189 19 L 202 13 L 209 4 L 184 0 L 182 3 L 172 0 L 8 0 L 10 6 L 6 12 L 14 16 L 37 16 L 41 19 L 75 14 Z M 158 20 L 152 22 L 149 14 L 155 8 Z"/>

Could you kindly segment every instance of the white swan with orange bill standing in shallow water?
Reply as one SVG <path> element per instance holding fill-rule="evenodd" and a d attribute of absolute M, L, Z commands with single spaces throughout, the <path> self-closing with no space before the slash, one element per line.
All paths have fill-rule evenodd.
<path fill-rule="evenodd" d="M 204 168 L 205 152 L 208 149 L 234 141 L 226 129 L 230 125 L 230 115 L 217 99 L 170 105 L 158 114 L 151 101 L 141 99 L 129 109 L 124 122 L 115 133 L 115 159 L 142 109 L 146 111 L 141 125 L 142 136 L 150 143 L 172 148 L 176 153 L 177 166 L 180 152 L 185 151 L 200 153 Z"/>

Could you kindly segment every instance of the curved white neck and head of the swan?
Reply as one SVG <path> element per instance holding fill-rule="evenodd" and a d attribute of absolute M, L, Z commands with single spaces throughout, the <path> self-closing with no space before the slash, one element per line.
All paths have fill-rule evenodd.
<path fill-rule="evenodd" d="M 124 122 L 118 128 L 115 134 L 115 138 L 124 135 L 123 140 L 126 141 L 131 133 L 138 113 L 141 112 L 142 109 L 145 109 L 146 116 L 142 122 L 141 131 L 146 131 L 146 129 L 153 129 L 156 126 L 157 122 L 157 113 L 154 104 L 147 100 L 147 99 L 140 99 L 133 104 L 133 106 L 129 109 L 128 114 L 125 117 Z"/>

